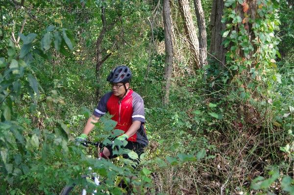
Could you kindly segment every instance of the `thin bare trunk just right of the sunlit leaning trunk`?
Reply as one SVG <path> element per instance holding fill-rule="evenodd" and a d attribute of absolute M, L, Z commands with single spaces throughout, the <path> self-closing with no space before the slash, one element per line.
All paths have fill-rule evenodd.
<path fill-rule="evenodd" d="M 197 17 L 197 25 L 199 29 L 199 56 L 200 64 L 207 65 L 207 39 L 206 39 L 206 25 L 204 12 L 201 5 L 201 0 L 194 0 L 195 13 Z"/>

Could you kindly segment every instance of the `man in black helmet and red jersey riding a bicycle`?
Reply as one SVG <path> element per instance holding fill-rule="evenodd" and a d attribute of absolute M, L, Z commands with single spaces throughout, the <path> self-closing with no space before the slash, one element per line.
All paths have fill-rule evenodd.
<path fill-rule="evenodd" d="M 95 127 L 96 122 L 107 112 L 112 115 L 112 120 L 117 122 L 114 129 L 123 130 L 123 134 L 116 137 L 118 141 L 127 141 L 123 148 L 135 151 L 139 158 L 148 145 L 148 139 L 144 128 L 145 112 L 142 97 L 129 89 L 132 73 L 127 66 L 118 66 L 113 69 L 107 77 L 111 83 L 112 92 L 101 97 L 93 115 L 86 122 L 83 133 L 75 140 L 86 141 L 88 134 Z M 113 154 L 115 147 L 105 146 L 99 156 L 107 159 L 115 158 Z M 129 158 L 123 154 L 123 158 Z"/>

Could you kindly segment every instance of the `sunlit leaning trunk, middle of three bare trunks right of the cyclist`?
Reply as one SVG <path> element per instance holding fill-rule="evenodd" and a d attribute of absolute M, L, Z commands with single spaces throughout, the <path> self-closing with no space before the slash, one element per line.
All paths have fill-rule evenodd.
<path fill-rule="evenodd" d="M 179 9 L 183 19 L 186 37 L 189 41 L 191 52 L 193 53 L 196 70 L 202 68 L 199 57 L 199 41 L 196 35 L 196 29 L 192 19 L 190 5 L 188 0 L 179 0 Z"/>

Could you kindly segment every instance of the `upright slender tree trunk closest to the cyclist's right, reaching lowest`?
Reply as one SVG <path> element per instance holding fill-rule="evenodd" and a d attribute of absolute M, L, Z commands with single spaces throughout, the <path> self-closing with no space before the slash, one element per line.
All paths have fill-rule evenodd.
<path fill-rule="evenodd" d="M 163 0 L 163 24 L 164 24 L 164 38 L 165 38 L 165 69 L 164 69 L 164 82 L 163 82 L 163 103 L 169 103 L 171 77 L 172 77 L 172 58 L 173 58 L 173 46 L 172 46 L 172 17 L 171 6 L 169 0 Z"/>

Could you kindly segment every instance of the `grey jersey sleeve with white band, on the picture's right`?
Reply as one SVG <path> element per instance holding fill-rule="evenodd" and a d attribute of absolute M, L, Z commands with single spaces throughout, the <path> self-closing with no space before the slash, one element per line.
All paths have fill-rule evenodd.
<path fill-rule="evenodd" d="M 137 94 L 133 93 L 133 114 L 132 121 L 141 121 L 145 123 L 145 111 L 144 111 L 144 101 L 143 98 Z"/>

